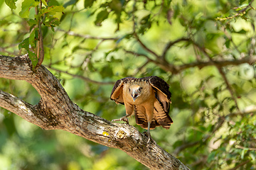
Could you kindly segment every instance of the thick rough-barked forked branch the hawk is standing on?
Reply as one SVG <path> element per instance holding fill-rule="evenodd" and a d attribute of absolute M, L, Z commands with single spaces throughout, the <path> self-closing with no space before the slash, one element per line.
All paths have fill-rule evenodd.
<path fill-rule="evenodd" d="M 70 100 L 63 86 L 42 65 L 32 71 L 27 55 L 0 55 L 0 77 L 27 81 L 41 95 L 32 106 L 25 101 L 0 91 L 0 106 L 46 130 L 65 130 L 107 147 L 121 149 L 149 169 L 188 169 L 178 159 L 127 124 L 111 123 L 92 113 L 82 111 Z"/>

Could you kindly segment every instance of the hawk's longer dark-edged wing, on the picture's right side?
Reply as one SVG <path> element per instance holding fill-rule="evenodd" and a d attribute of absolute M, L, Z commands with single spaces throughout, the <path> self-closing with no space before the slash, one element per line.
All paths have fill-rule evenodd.
<path fill-rule="evenodd" d="M 156 101 L 154 102 L 154 116 L 156 121 L 169 129 L 173 120 L 169 115 L 171 92 L 169 91 L 169 84 L 159 77 L 149 77 L 149 83 L 155 91 Z"/>

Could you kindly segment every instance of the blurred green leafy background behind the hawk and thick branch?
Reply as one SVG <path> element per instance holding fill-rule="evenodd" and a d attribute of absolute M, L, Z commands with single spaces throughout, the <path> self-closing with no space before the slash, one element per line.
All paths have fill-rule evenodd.
<path fill-rule="evenodd" d="M 33 2 L 33 0 L 25 0 Z M 0 1 L 0 55 L 26 54 L 31 8 Z M 159 146 L 191 169 L 256 169 L 255 8 L 245 0 L 51 0 L 59 25 L 43 26 L 43 65 L 71 100 L 107 120 L 114 82 L 158 76 L 170 84 L 174 123 L 156 128 Z M 37 104 L 25 81 L 0 89 Z M 140 132 L 134 117 L 130 124 Z M 147 169 L 124 152 L 62 130 L 42 130 L 0 108 L 0 169 Z"/>

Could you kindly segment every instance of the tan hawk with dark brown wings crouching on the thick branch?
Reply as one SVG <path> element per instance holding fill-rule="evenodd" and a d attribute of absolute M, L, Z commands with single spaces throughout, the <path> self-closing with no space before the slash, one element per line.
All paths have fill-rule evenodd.
<path fill-rule="evenodd" d="M 125 106 L 126 115 L 112 121 L 123 120 L 134 113 L 137 125 L 147 129 L 148 143 L 150 129 L 157 126 L 169 129 L 173 120 L 169 116 L 171 92 L 169 84 L 159 77 L 126 77 L 117 80 L 110 96 L 112 101 Z"/>

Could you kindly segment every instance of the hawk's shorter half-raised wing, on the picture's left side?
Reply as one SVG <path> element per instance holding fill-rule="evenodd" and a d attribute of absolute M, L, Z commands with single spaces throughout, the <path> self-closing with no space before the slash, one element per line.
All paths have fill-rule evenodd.
<path fill-rule="evenodd" d="M 121 103 L 124 105 L 124 98 L 123 98 L 123 86 L 124 84 L 129 83 L 129 81 L 132 81 L 132 79 L 135 79 L 134 77 L 126 77 L 123 79 L 117 80 L 117 82 L 114 84 L 114 87 L 112 89 L 110 99 L 112 101 L 115 101 L 116 103 Z"/>

